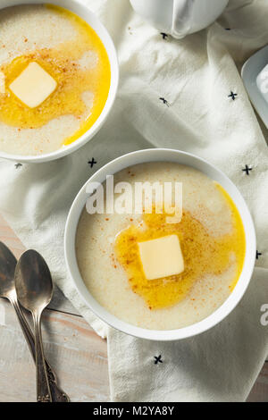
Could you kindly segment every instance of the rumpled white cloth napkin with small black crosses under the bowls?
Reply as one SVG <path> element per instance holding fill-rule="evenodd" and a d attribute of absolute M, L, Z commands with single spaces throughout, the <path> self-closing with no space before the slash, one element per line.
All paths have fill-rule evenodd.
<path fill-rule="evenodd" d="M 261 323 L 268 303 L 268 153 L 267 131 L 260 129 L 239 70 L 267 43 L 268 4 L 230 1 L 218 22 L 179 41 L 142 21 L 128 0 L 86 3 L 118 51 L 113 111 L 72 155 L 47 164 L 1 161 L 0 211 L 25 246 L 46 258 L 54 281 L 96 332 L 108 336 L 112 400 L 243 401 L 268 350 L 268 326 Z M 209 332 L 172 343 L 138 340 L 97 320 L 73 289 L 63 259 L 64 223 L 80 187 L 114 157 L 147 147 L 185 150 L 227 173 L 247 200 L 261 254 L 233 313 Z M 92 158 L 97 163 L 91 168 Z"/>

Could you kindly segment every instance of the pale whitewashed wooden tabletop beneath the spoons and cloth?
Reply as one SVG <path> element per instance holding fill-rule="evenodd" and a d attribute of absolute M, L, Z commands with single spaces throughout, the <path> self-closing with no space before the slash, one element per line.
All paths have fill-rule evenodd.
<path fill-rule="evenodd" d="M 24 250 L 0 215 L 0 240 L 16 257 Z M 107 349 L 71 303 L 56 289 L 43 315 L 46 356 L 71 401 L 109 400 Z M 35 401 L 35 367 L 13 307 L 0 298 L 0 402 Z M 268 401 L 268 361 L 248 401 Z"/>

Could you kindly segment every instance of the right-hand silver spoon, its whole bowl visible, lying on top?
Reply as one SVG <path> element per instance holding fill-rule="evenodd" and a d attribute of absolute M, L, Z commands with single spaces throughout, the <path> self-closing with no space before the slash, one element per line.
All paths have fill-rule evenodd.
<path fill-rule="evenodd" d="M 24 252 L 15 268 L 15 287 L 22 307 L 33 317 L 37 369 L 37 400 L 52 401 L 40 327 L 41 315 L 53 295 L 53 283 L 46 261 L 38 252 Z"/>

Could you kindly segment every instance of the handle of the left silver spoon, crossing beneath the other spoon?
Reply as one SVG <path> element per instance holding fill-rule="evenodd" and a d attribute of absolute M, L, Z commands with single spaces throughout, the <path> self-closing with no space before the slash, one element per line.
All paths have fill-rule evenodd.
<path fill-rule="evenodd" d="M 27 340 L 31 356 L 33 357 L 34 361 L 36 361 L 35 340 L 30 330 L 29 323 L 26 320 L 23 312 L 21 311 L 21 307 L 18 303 L 18 300 L 15 298 L 10 298 L 10 302 L 13 305 L 13 308 L 15 309 L 15 312 L 18 316 L 19 322 L 21 324 L 21 330 L 24 334 L 25 339 Z M 47 373 L 47 379 L 48 379 L 49 387 L 51 391 L 52 401 L 53 402 L 70 402 L 68 395 L 65 394 L 65 392 L 62 391 L 57 385 L 54 371 L 52 370 L 46 358 L 45 358 L 45 363 L 46 363 L 46 373 Z"/>

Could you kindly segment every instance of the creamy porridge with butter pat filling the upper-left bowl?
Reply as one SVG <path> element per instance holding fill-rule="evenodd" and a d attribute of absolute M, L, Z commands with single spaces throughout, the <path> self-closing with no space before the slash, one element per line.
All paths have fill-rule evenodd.
<path fill-rule="evenodd" d="M 0 150 L 42 155 L 80 138 L 110 88 L 96 32 L 50 4 L 5 8 L 0 27 Z"/>

